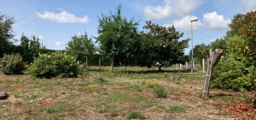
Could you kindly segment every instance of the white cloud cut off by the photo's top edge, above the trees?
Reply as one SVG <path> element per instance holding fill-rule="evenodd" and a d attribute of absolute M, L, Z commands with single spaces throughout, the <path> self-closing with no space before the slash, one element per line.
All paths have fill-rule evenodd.
<path fill-rule="evenodd" d="M 202 5 L 202 0 L 164 0 L 164 4 L 164 6 L 146 6 L 144 16 L 147 19 L 165 19 L 171 15 L 182 17 Z"/>

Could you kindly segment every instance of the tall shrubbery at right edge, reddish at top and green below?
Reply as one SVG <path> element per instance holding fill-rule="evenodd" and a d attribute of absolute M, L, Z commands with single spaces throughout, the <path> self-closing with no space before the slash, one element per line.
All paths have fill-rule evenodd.
<path fill-rule="evenodd" d="M 256 12 L 236 14 L 227 32 L 227 53 L 213 74 L 212 87 L 246 91 L 256 89 Z"/>

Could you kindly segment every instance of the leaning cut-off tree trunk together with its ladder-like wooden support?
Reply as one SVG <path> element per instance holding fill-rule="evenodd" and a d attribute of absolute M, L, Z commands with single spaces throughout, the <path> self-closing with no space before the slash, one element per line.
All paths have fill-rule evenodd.
<path fill-rule="evenodd" d="M 208 69 L 205 75 L 204 85 L 202 90 L 202 99 L 204 100 L 209 99 L 209 86 L 210 86 L 211 75 L 214 67 L 221 59 L 222 53 L 223 53 L 223 50 L 216 49 L 215 52 L 211 52 L 210 54 Z"/>

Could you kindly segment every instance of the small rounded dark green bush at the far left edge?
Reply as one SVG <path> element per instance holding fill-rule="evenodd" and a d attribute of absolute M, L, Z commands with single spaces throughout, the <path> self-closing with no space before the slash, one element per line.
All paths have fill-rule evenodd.
<path fill-rule="evenodd" d="M 19 54 L 15 55 L 4 55 L 0 59 L 0 70 L 6 74 L 20 74 L 24 69 L 22 57 Z"/>

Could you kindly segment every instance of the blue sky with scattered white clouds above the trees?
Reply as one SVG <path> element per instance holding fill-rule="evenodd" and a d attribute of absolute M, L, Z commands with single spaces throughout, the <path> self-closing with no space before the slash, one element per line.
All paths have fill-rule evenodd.
<path fill-rule="evenodd" d="M 138 30 L 147 20 L 174 25 L 184 32 L 180 40 L 191 37 L 190 20 L 199 19 L 193 22 L 194 45 L 222 38 L 235 14 L 256 10 L 256 0 L 0 0 L 0 13 L 14 17 L 15 39 L 35 35 L 48 49 L 63 50 L 75 34 L 97 37 L 98 16 L 114 13 L 119 4 L 124 17 L 139 21 Z M 191 41 L 185 53 L 190 49 Z"/>

